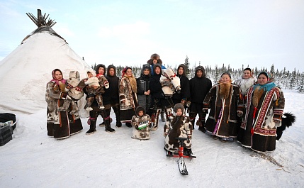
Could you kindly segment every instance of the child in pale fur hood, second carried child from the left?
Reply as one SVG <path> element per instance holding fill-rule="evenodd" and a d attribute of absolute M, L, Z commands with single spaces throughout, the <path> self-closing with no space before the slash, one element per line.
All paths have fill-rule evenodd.
<path fill-rule="evenodd" d="M 88 92 L 88 97 L 86 98 L 86 106 L 84 107 L 86 111 L 93 110 L 91 104 L 96 99 L 99 109 L 104 109 L 102 95 L 105 90 L 103 87 L 108 89 L 108 79 L 103 74 L 95 74 L 94 71 L 87 70 L 86 76 L 88 79 L 84 82 L 88 87 L 86 87 L 86 92 Z"/>

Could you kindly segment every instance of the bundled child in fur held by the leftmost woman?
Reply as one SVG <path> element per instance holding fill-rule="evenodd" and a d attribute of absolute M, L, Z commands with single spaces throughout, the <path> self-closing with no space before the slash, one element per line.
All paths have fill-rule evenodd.
<path fill-rule="evenodd" d="M 67 111 L 69 109 L 69 105 L 72 104 L 72 110 L 69 114 L 75 114 L 79 111 L 77 106 L 77 101 L 84 96 L 84 92 L 77 91 L 76 87 L 80 82 L 80 74 L 78 71 L 70 71 L 69 72 L 69 79 L 66 82 L 66 92 L 72 99 L 65 99 L 64 104 L 58 108 L 58 111 Z"/>

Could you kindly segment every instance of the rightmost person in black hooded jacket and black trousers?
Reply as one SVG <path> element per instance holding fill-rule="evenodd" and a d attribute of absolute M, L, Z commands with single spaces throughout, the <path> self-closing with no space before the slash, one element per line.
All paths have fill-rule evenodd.
<path fill-rule="evenodd" d="M 190 79 L 191 105 L 189 109 L 189 116 L 194 128 L 194 121 L 196 119 L 196 115 L 198 114 L 198 121 L 196 121 L 196 125 L 199 126 L 198 130 L 203 131 L 204 133 L 206 131 L 205 122 L 208 112 L 203 112 L 203 100 L 211 87 L 212 82 L 210 79 L 206 78 L 204 67 L 196 67 L 196 74 L 192 79 Z"/>

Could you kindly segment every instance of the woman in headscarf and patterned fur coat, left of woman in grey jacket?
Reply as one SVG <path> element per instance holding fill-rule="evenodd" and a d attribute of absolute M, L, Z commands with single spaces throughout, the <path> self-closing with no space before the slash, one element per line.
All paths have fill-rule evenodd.
<path fill-rule="evenodd" d="M 120 122 L 132 127 L 131 120 L 135 115 L 137 103 L 137 83 L 131 67 L 125 67 L 119 82 Z"/>

